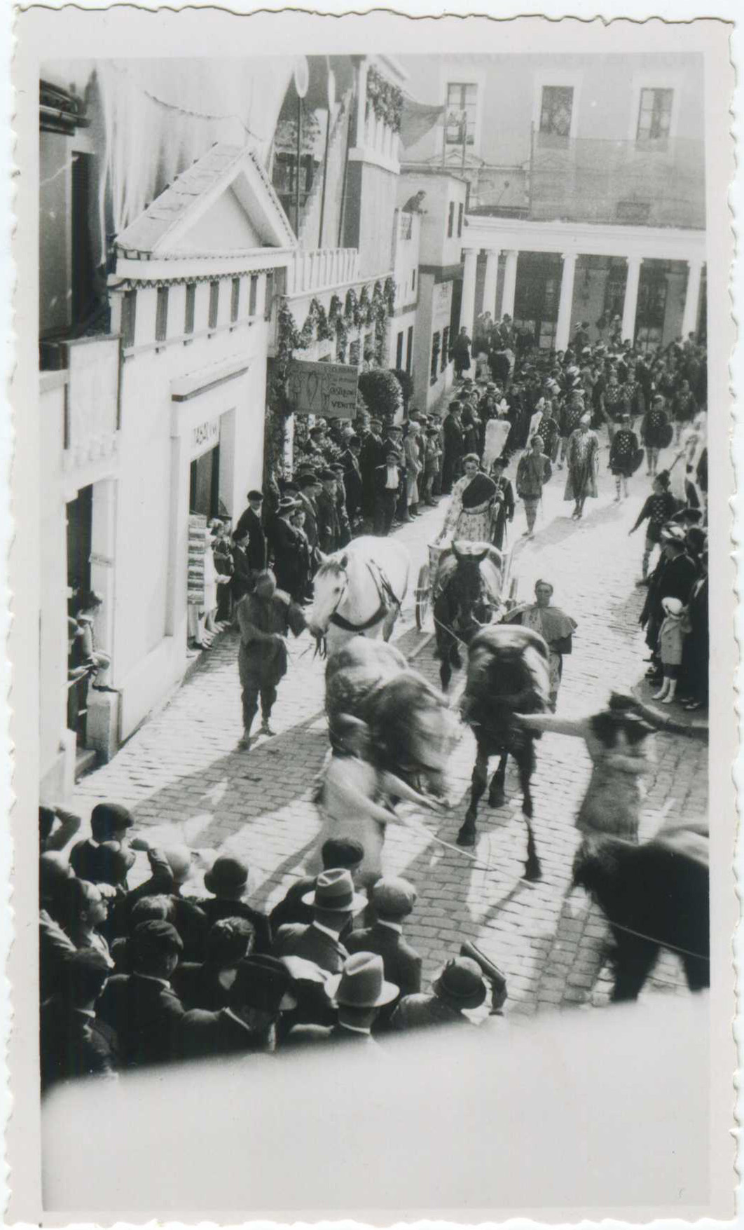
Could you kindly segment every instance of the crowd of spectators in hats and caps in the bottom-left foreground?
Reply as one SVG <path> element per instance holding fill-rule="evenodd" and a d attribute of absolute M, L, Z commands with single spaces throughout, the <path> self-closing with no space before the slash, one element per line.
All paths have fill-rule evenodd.
<path fill-rule="evenodd" d="M 503 977 L 472 946 L 422 989 L 422 958 L 403 936 L 416 889 L 382 878 L 368 900 L 350 838 L 326 841 L 323 870 L 268 915 L 247 900 L 240 859 L 157 847 L 134 835 L 122 804 L 98 803 L 91 835 L 71 847 L 71 813 L 41 808 L 39 825 L 43 1091 L 175 1060 L 485 1023 L 505 1000 Z M 149 875 L 133 888 L 138 855 Z M 466 1015 L 481 1007 L 480 1021 Z"/>

